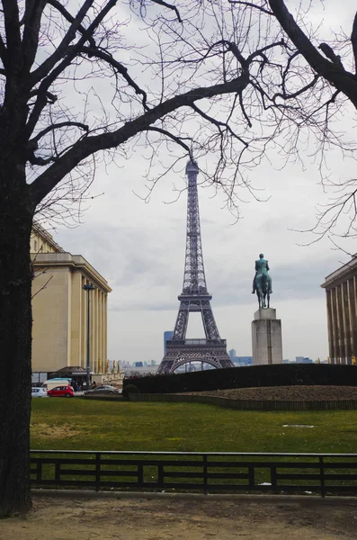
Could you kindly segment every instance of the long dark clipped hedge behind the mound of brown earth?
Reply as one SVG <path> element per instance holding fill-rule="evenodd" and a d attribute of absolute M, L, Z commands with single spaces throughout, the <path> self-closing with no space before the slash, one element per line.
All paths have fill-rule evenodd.
<path fill-rule="evenodd" d="M 357 365 L 275 364 L 210 369 L 124 379 L 141 393 L 203 392 L 232 388 L 291 385 L 357 386 Z"/>

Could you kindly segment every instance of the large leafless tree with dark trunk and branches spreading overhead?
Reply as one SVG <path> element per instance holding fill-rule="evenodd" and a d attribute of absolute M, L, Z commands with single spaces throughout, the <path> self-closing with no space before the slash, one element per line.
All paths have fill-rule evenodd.
<path fill-rule="evenodd" d="M 245 172 L 271 149 L 299 158 L 314 136 L 322 152 L 326 145 L 352 152 L 331 121 L 357 104 L 357 30 L 354 23 L 352 39 L 335 40 L 334 49 L 307 30 L 302 4 L 294 19 L 282 0 L 1 4 L 0 515 L 7 515 L 31 507 L 35 212 L 56 208 L 61 216 L 67 199 L 80 200 L 91 184 L 98 161 L 123 161 L 138 145 L 153 164 L 164 143 L 173 162 L 192 145 L 197 157 L 210 152 L 208 178 L 234 207 L 240 188 L 254 189 Z"/>

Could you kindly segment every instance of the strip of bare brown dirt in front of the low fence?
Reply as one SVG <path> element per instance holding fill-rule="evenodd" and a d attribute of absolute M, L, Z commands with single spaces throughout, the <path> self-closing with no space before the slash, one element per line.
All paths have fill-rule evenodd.
<path fill-rule="evenodd" d="M 328 504 L 326 504 L 328 502 Z M 1 540 L 355 540 L 357 501 L 35 497 Z"/>

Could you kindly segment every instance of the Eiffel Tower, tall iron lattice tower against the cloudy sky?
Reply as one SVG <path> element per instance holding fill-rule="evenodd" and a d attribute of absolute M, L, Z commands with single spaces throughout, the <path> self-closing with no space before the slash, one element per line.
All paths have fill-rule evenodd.
<path fill-rule="evenodd" d="M 186 166 L 188 177 L 186 255 L 183 272 L 183 292 L 178 296 L 180 308 L 174 325 L 173 337 L 166 341 L 165 356 L 157 374 L 172 374 L 180 366 L 203 362 L 215 368 L 234 367 L 227 353 L 227 343 L 219 336 L 213 317 L 204 275 L 201 246 L 201 225 L 197 175 L 199 167 L 192 159 Z M 205 339 L 186 339 L 189 313 L 201 312 Z"/>

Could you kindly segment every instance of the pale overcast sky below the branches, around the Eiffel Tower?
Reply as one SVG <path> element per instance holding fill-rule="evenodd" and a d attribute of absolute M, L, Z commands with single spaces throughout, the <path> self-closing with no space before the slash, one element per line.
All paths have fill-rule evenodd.
<path fill-rule="evenodd" d="M 329 21 L 351 30 L 351 14 L 341 14 L 337 3 L 329 2 Z M 334 5 L 335 4 L 335 5 Z M 349 3 L 352 8 L 353 2 Z M 328 7 L 328 6 L 327 6 Z M 346 122 L 347 125 L 347 122 Z M 201 236 L 211 306 L 221 338 L 237 356 L 252 354 L 251 321 L 257 309 L 251 293 L 254 260 L 263 252 L 272 275 L 272 307 L 282 323 L 283 357 L 326 358 L 325 292 L 320 288 L 326 275 L 348 260 L 333 249 L 326 238 L 301 247 L 314 239 L 294 229 L 308 229 L 315 223 L 317 202 L 327 202 L 313 157 L 314 141 L 307 149 L 304 167 L 290 164 L 281 170 L 277 157 L 249 173 L 265 202 L 246 197 L 242 217 L 235 222 L 221 194 L 199 187 Z M 162 148 L 163 161 L 167 159 Z M 210 156 L 201 158 L 206 169 Z M 186 228 L 186 192 L 174 202 L 175 186 L 184 186 L 184 171 L 178 167 L 156 185 L 149 202 L 147 161 L 138 147 L 120 166 L 98 166 L 91 193 L 103 193 L 85 211 L 76 229 L 58 227 L 51 231 L 58 243 L 72 254 L 84 256 L 109 282 L 108 349 L 115 360 L 161 361 L 163 333 L 174 329 L 179 307 L 177 295 L 183 284 Z M 334 179 L 354 176 L 355 164 L 331 154 Z M 200 180 L 200 177 L 199 177 Z M 135 194 L 135 193 L 138 193 Z M 344 248 L 357 251 L 354 242 Z M 203 337 L 201 320 L 191 315 L 188 337 Z"/>

